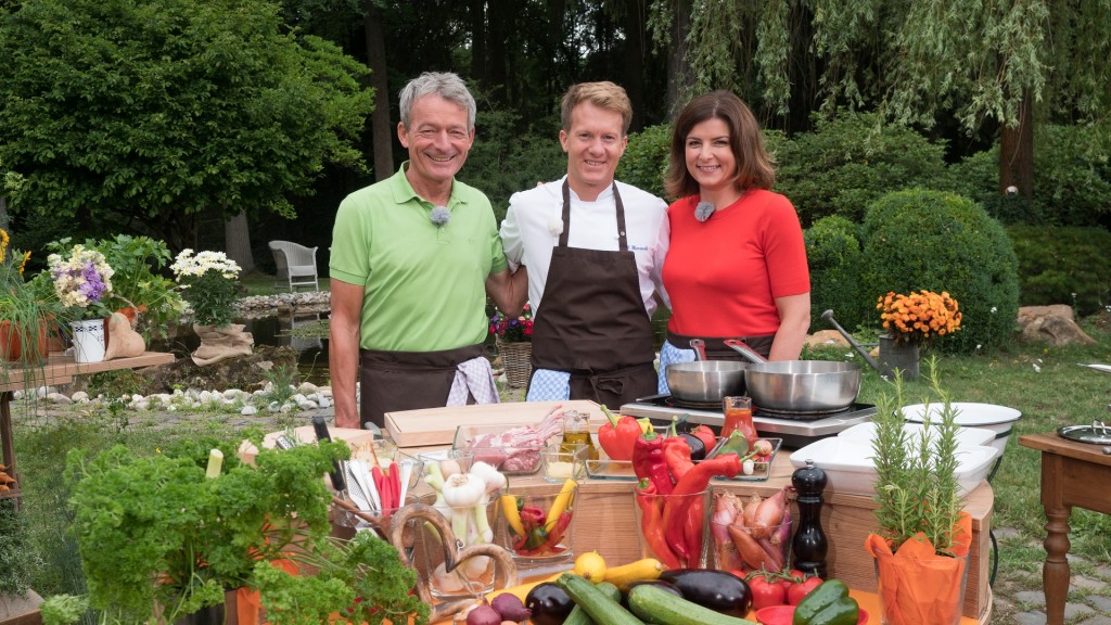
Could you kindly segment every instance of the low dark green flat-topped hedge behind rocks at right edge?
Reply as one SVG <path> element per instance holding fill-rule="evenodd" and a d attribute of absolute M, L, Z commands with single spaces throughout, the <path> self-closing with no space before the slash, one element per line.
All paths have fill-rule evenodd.
<path fill-rule="evenodd" d="M 1111 306 L 1111 232 L 1103 228 L 1011 226 L 1023 306 L 1069 304 L 1077 315 Z"/>

